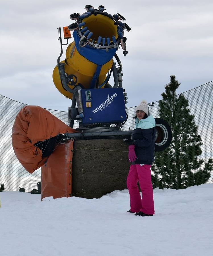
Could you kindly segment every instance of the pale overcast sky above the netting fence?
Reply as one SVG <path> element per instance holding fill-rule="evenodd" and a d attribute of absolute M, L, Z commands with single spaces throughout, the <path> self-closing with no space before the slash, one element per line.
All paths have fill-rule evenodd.
<path fill-rule="evenodd" d="M 213 80 L 212 0 L 1 0 L 0 94 L 25 104 L 67 111 L 71 100 L 52 80 L 60 54 L 57 28 L 72 23 L 69 15 L 84 13 L 86 4 L 104 5 L 112 15 L 121 13 L 131 27 L 124 34 L 127 56 L 123 57 L 121 48 L 117 51 L 127 107 L 144 99 L 160 100 L 170 75 L 181 82 L 178 93 Z"/>

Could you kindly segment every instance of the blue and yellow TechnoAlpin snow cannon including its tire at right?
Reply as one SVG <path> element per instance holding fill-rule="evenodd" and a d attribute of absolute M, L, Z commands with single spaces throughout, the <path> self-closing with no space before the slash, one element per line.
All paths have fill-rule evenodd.
<path fill-rule="evenodd" d="M 98 9 L 86 5 L 84 9 L 83 14 L 71 14 L 74 22 L 63 28 L 66 44 L 62 43 L 58 28 L 61 54 L 53 71 L 53 82 L 72 100 L 68 109 L 69 126 L 73 128 L 75 120 L 79 123 L 77 132 L 68 137 L 75 140 L 130 137 L 132 131 L 121 130 L 128 118 L 127 93 L 122 88 L 122 64 L 116 52 L 121 46 L 123 55 L 127 55 L 124 31 L 131 28 L 120 13 L 111 15 L 103 5 Z M 71 31 L 74 41 L 67 47 L 66 59 L 60 62 Z M 111 74 L 114 84 L 109 84 Z M 164 150 L 170 142 L 171 128 L 164 120 L 156 119 L 156 151 Z"/>

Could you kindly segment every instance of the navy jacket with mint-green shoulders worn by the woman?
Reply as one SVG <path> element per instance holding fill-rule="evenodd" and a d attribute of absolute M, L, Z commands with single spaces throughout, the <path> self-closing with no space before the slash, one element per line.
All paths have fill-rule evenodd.
<path fill-rule="evenodd" d="M 155 119 L 149 115 L 145 119 L 135 119 L 135 130 L 131 139 L 135 145 L 137 159 L 134 164 L 149 164 L 154 162 L 155 149 Z"/>

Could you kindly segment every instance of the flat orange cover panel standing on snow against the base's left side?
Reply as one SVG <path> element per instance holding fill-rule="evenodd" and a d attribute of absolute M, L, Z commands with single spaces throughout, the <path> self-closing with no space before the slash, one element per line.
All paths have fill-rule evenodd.
<path fill-rule="evenodd" d="M 72 193 L 73 140 L 58 144 L 42 166 L 41 198 L 70 197 Z"/>

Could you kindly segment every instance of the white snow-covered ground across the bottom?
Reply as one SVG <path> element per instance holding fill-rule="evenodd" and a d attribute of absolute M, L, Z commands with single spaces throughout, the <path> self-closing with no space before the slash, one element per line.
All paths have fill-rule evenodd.
<path fill-rule="evenodd" d="M 127 213 L 129 193 L 41 201 L 1 192 L 0 255 L 213 255 L 213 184 L 154 189 L 153 217 Z"/>

